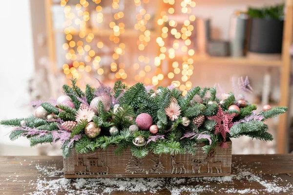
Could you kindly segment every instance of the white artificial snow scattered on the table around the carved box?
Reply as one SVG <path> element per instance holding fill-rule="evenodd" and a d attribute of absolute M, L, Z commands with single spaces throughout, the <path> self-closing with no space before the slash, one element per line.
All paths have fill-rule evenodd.
<path fill-rule="evenodd" d="M 293 192 L 293 185 L 289 182 L 280 186 L 284 180 L 278 175 L 272 175 L 270 181 L 265 180 L 261 175 L 254 175 L 244 164 L 233 163 L 233 169 L 237 170 L 231 176 L 212 176 L 212 177 L 189 177 L 189 178 L 79 178 L 66 179 L 63 177 L 63 170 L 56 165 L 43 166 L 36 164 L 39 171 L 37 180 L 30 180 L 29 187 L 34 189 L 28 195 L 55 195 L 63 192 L 64 195 L 90 195 L 100 192 L 100 195 L 111 194 L 112 192 L 123 191 L 130 193 L 160 194 L 166 190 L 171 195 L 201 193 L 208 194 L 278 194 Z M 15 173 L 16 174 L 16 173 Z M 15 176 L 13 182 L 23 182 L 17 180 Z M 7 178 L 6 181 L 9 179 Z M 231 186 L 234 181 L 244 181 L 244 188 L 241 190 Z M 5 180 L 4 180 L 5 181 Z M 286 180 L 287 181 L 287 180 Z M 253 182 L 253 184 L 252 184 Z M 263 186 L 262 189 L 253 189 L 255 183 Z M 216 184 L 217 187 L 214 187 Z M 3 183 L 2 183 L 3 186 Z M 123 193 L 122 193 L 123 194 Z"/>

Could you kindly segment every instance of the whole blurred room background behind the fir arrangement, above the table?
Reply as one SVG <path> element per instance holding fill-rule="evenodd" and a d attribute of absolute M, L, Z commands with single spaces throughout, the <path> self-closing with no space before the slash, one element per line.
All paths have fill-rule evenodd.
<path fill-rule="evenodd" d="M 293 0 L 19 0 L 0 12 L 0 120 L 34 113 L 69 78 L 79 85 L 173 83 L 235 92 L 248 76 L 262 109 L 292 107 Z M 291 51 L 292 52 L 292 51 Z M 247 84 L 247 83 L 246 83 Z M 236 91 L 235 91 L 236 90 Z M 239 94 L 240 95 L 240 94 Z M 293 151 L 292 112 L 268 121 L 272 142 L 242 137 L 234 154 Z M 0 155 L 61 155 L 59 145 L 11 142 L 0 126 Z"/>

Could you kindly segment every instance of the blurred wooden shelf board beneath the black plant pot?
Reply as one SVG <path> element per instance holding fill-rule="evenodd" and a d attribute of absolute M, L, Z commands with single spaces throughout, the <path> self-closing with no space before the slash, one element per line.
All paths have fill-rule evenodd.
<path fill-rule="evenodd" d="M 182 59 L 181 57 L 175 57 L 176 59 Z M 209 57 L 194 55 L 191 57 L 194 62 L 205 62 L 205 63 L 219 63 L 227 65 L 247 65 L 247 66 L 272 66 L 281 67 L 282 60 L 264 60 L 264 59 L 250 59 L 250 58 L 233 58 L 233 57 Z"/>

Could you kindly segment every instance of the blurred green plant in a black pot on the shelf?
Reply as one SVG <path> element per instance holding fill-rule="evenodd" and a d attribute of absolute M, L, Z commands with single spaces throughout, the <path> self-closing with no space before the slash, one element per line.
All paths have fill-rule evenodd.
<path fill-rule="evenodd" d="M 249 8 L 251 17 L 249 51 L 262 54 L 282 52 L 284 4 L 272 7 Z"/>

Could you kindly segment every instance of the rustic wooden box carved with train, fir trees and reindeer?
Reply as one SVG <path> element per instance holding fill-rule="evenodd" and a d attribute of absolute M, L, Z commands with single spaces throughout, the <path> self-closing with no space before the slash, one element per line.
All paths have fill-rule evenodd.
<path fill-rule="evenodd" d="M 115 147 L 106 151 L 77 154 L 63 159 L 65 178 L 86 177 L 189 177 L 229 176 L 231 173 L 232 143 L 228 148 L 220 147 L 205 155 L 202 143 L 197 144 L 195 156 L 189 154 L 171 156 L 148 154 L 142 159 L 131 155 L 115 155 Z"/>

